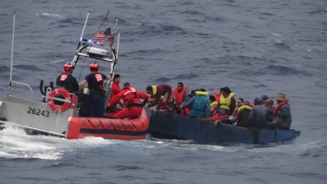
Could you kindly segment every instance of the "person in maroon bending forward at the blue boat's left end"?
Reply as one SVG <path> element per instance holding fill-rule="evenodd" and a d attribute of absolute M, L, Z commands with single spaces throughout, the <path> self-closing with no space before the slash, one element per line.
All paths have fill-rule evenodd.
<path fill-rule="evenodd" d="M 147 94 L 150 95 L 150 98 L 155 98 L 158 100 L 157 104 L 154 106 L 153 112 L 158 110 L 158 105 L 164 107 L 168 111 L 172 112 L 172 108 L 168 105 L 171 96 L 173 94 L 172 87 L 168 84 L 160 84 L 158 86 L 147 86 Z M 164 98 L 162 98 L 163 96 Z"/>

